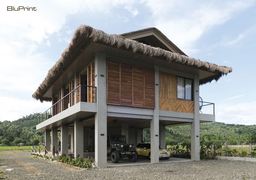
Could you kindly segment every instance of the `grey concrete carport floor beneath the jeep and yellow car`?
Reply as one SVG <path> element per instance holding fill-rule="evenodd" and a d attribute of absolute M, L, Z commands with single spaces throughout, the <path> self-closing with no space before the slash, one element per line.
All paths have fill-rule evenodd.
<path fill-rule="evenodd" d="M 191 161 L 190 159 L 179 159 L 179 158 L 170 158 L 168 160 L 166 159 L 160 159 L 159 162 L 174 162 L 174 161 Z M 119 161 L 119 163 L 112 163 L 111 157 L 107 157 L 107 166 L 119 166 L 119 165 L 131 165 L 131 164 L 145 164 L 150 163 L 150 159 L 147 157 L 138 157 L 136 162 L 130 162 L 128 157 L 125 157 Z"/>

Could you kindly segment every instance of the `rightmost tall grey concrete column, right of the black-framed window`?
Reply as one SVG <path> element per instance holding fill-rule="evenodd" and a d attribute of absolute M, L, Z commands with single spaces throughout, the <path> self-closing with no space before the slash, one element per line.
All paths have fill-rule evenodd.
<path fill-rule="evenodd" d="M 191 160 L 200 160 L 199 77 L 194 75 L 194 121 L 191 123 Z"/>

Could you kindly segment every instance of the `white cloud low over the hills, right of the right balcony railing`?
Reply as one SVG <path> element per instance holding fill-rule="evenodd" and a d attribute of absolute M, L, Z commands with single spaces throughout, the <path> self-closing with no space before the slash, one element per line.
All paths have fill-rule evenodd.
<path fill-rule="evenodd" d="M 216 121 L 229 124 L 256 124 L 256 102 L 215 106 Z"/>

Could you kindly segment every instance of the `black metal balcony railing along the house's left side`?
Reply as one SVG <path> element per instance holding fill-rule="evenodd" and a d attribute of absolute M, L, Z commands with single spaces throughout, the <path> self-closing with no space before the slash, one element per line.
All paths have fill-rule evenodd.
<path fill-rule="evenodd" d="M 71 106 L 74 106 L 78 102 L 97 102 L 96 90 L 97 87 L 95 86 L 79 85 L 45 112 L 40 114 L 37 117 L 37 124 L 40 124 Z"/>

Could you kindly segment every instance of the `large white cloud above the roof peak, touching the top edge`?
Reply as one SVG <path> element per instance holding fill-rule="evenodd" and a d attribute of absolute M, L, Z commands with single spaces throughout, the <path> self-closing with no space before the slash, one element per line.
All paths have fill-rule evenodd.
<path fill-rule="evenodd" d="M 254 1 L 178 1 L 149 0 L 155 26 L 187 54 L 197 53 L 193 43 L 211 27 L 228 21 Z M 157 4 L 157 6 L 156 6 Z"/>

